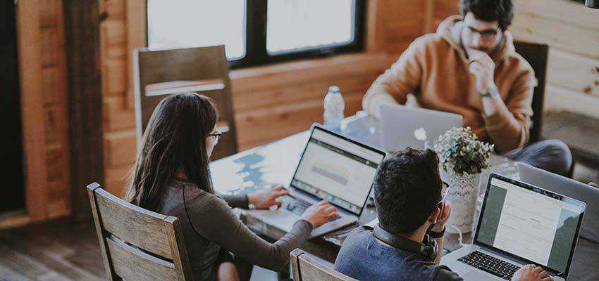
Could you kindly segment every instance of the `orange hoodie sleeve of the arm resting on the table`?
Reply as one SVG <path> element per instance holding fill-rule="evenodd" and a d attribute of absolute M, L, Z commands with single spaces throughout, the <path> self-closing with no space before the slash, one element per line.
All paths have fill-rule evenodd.
<path fill-rule="evenodd" d="M 424 46 L 418 39 L 402 53 L 385 73 L 381 74 L 366 91 L 362 107 L 377 119 L 381 117 L 378 107 L 385 103 L 405 104 L 407 95 L 420 86 Z"/>

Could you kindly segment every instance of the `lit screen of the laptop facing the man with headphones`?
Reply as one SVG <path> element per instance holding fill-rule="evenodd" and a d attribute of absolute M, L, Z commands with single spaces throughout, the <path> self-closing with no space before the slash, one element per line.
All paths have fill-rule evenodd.
<path fill-rule="evenodd" d="M 492 175 L 474 241 L 567 273 L 584 209 L 578 200 Z"/>

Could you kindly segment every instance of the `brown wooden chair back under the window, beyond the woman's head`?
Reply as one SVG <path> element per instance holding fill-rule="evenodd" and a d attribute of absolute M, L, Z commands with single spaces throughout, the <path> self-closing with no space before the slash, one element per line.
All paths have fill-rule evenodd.
<path fill-rule="evenodd" d="M 221 131 L 227 131 L 214 148 L 213 159 L 237 153 L 229 62 L 224 46 L 133 51 L 137 148 L 156 105 L 174 93 L 198 92 L 218 107 Z"/>

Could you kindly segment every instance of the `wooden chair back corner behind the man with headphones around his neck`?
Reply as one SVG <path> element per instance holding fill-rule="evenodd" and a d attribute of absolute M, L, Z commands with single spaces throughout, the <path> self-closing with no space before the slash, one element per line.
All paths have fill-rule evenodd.
<path fill-rule="evenodd" d="M 301 249 L 294 249 L 291 252 L 290 262 L 294 281 L 357 281 L 333 268 L 323 266 Z"/>

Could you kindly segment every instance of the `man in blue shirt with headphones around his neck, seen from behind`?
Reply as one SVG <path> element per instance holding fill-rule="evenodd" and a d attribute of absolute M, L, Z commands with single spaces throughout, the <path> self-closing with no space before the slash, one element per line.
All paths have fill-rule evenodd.
<path fill-rule="evenodd" d="M 357 280 L 462 280 L 439 265 L 451 214 L 442 186 L 432 150 L 407 148 L 385 158 L 373 183 L 378 225 L 347 236 L 335 270 Z M 524 266 L 512 280 L 550 280 L 547 276 L 542 268 Z"/>

